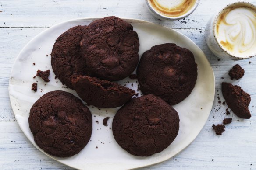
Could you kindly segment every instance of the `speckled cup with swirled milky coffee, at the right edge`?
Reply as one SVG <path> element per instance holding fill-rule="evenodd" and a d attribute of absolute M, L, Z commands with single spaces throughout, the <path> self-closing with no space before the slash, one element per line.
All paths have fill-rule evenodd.
<path fill-rule="evenodd" d="M 207 23 L 205 40 L 221 59 L 256 56 L 256 6 L 248 2 L 229 4 Z"/>

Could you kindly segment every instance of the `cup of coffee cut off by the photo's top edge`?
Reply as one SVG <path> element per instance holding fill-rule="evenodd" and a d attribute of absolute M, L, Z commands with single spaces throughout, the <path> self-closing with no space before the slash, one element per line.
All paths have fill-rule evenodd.
<path fill-rule="evenodd" d="M 199 0 L 146 0 L 146 4 L 156 18 L 179 20 L 190 15 Z"/>

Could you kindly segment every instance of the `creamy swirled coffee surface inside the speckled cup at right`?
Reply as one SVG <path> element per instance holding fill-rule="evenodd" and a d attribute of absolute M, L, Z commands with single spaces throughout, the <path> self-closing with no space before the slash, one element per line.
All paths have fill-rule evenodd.
<path fill-rule="evenodd" d="M 220 46 L 233 56 L 247 58 L 256 55 L 256 9 L 235 4 L 224 9 L 215 25 Z"/>

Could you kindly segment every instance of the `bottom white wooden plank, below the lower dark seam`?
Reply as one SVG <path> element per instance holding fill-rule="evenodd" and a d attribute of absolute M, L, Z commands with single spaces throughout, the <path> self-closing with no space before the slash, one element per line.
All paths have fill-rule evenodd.
<path fill-rule="evenodd" d="M 256 122 L 232 122 L 226 125 L 223 135 L 215 135 L 207 122 L 198 137 L 181 153 L 164 163 L 146 169 L 255 169 Z M 36 149 L 18 126 L 17 122 L 0 122 L 0 165 L 11 169 L 67 169 Z M 252 164 L 252 165 L 251 165 Z M 0 166 L 0 167 L 1 167 Z"/>

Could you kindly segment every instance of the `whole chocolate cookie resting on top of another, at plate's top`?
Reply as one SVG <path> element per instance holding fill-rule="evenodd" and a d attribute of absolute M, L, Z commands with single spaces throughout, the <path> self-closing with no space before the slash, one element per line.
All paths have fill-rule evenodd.
<path fill-rule="evenodd" d="M 131 24 L 118 17 L 104 17 L 86 28 L 80 42 L 92 73 L 116 81 L 129 76 L 139 61 L 139 38 Z"/>

